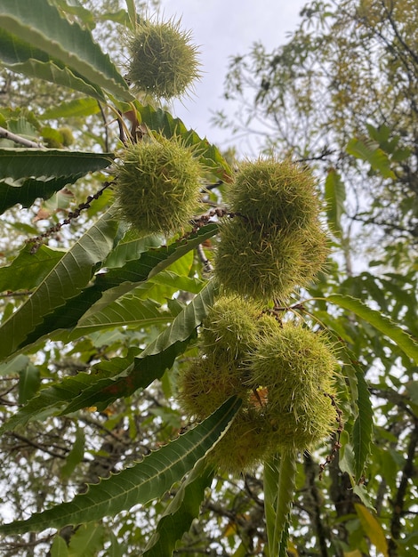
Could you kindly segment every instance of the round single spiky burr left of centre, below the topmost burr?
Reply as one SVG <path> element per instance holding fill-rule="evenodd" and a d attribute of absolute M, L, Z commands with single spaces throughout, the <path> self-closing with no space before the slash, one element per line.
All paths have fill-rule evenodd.
<path fill-rule="evenodd" d="M 115 176 L 121 216 L 144 233 L 183 230 L 197 209 L 201 174 L 193 150 L 176 138 L 129 145 Z"/>

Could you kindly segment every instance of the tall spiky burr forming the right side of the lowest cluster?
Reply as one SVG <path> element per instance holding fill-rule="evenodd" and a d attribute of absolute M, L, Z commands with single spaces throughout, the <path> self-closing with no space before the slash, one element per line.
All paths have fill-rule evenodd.
<path fill-rule="evenodd" d="M 309 449 L 334 429 L 338 362 L 325 335 L 293 323 L 261 338 L 249 367 L 253 389 L 267 392 L 267 437 L 277 448 Z"/>

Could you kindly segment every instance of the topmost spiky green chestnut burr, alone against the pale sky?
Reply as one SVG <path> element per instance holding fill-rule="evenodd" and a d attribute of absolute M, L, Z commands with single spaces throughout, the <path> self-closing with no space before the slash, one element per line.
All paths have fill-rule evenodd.
<path fill-rule="evenodd" d="M 157 99 L 186 93 L 199 77 L 197 47 L 181 21 L 142 20 L 128 42 L 127 77 L 134 87 Z"/>

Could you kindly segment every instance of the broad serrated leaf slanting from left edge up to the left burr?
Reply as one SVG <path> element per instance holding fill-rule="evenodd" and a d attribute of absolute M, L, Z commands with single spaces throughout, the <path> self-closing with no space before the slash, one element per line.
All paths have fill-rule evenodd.
<path fill-rule="evenodd" d="M 112 249 L 117 230 L 117 210 L 112 206 L 76 241 L 28 300 L 0 327 L 4 339 L 0 345 L 0 358 L 12 355 L 28 343 L 29 335 L 47 315 L 86 287 L 96 265 Z"/>

